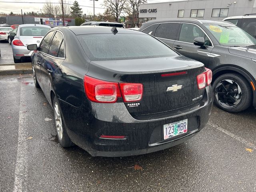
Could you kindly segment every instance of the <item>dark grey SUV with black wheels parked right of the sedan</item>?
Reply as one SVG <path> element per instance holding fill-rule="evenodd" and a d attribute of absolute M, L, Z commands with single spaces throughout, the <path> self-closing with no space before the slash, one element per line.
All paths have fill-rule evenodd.
<path fill-rule="evenodd" d="M 256 38 L 225 21 L 162 19 L 140 31 L 212 70 L 216 105 L 228 112 L 256 108 Z"/>

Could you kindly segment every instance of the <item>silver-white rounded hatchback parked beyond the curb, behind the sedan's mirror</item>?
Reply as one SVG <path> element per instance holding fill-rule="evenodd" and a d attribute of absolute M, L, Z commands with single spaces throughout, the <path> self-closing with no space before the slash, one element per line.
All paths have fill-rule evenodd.
<path fill-rule="evenodd" d="M 43 37 L 51 30 L 50 26 L 41 24 L 23 24 L 18 26 L 17 34 L 12 40 L 12 54 L 14 63 L 30 60 L 33 51 L 27 49 L 30 44 L 39 46 Z"/>

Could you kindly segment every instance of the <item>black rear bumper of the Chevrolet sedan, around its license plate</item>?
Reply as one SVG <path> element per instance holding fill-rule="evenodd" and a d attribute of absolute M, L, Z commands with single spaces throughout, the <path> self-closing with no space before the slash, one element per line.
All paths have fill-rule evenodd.
<path fill-rule="evenodd" d="M 206 93 L 194 106 L 162 116 L 158 114 L 156 118 L 147 120 L 132 117 L 122 102 L 111 105 L 92 102 L 90 111 L 88 106 L 75 108 L 62 100 L 59 102 L 72 142 L 92 156 L 132 156 L 175 146 L 202 130 L 208 123 L 212 109 L 211 86 L 206 88 Z M 163 125 L 184 119 L 188 119 L 188 132 L 164 140 Z M 125 136 L 125 139 L 102 139 L 102 134 Z"/>

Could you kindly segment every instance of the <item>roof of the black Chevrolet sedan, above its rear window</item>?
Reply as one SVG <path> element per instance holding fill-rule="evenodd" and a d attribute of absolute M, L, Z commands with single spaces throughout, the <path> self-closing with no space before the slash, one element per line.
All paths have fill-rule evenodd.
<path fill-rule="evenodd" d="M 106 27 L 106 26 L 67 26 L 67 27 L 58 27 L 58 30 L 71 30 L 75 35 L 82 34 L 100 34 L 100 33 L 112 33 L 111 29 L 115 27 Z M 54 28 L 55 29 L 55 28 Z M 143 32 L 137 30 L 129 30 L 125 28 L 116 28 L 118 33 L 126 34 L 144 34 Z"/>

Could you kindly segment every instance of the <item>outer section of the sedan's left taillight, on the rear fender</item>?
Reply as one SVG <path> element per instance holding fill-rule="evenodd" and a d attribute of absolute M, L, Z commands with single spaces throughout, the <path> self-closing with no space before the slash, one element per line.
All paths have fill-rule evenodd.
<path fill-rule="evenodd" d="M 89 100 L 98 103 L 114 103 L 121 97 L 118 83 L 84 76 L 84 91 Z"/>

